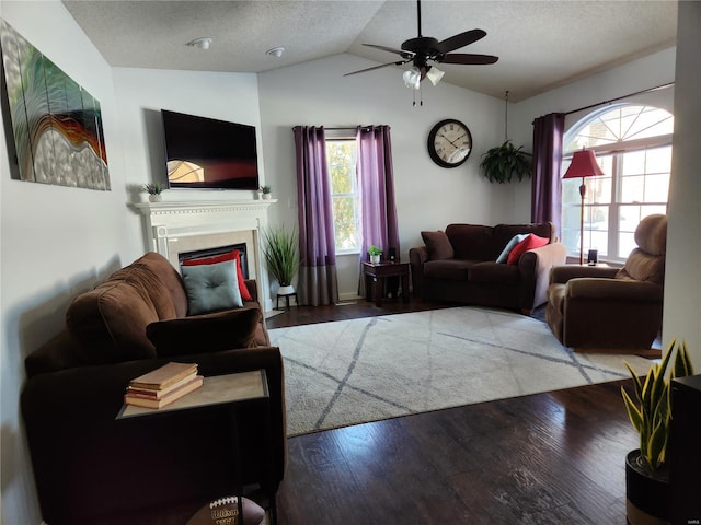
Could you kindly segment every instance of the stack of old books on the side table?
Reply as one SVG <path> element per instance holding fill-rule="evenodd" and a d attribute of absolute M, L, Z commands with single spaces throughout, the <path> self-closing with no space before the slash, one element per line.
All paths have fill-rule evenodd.
<path fill-rule="evenodd" d="M 197 363 L 168 363 L 129 382 L 124 402 L 137 407 L 163 408 L 196 390 L 204 377 L 197 375 Z"/>

